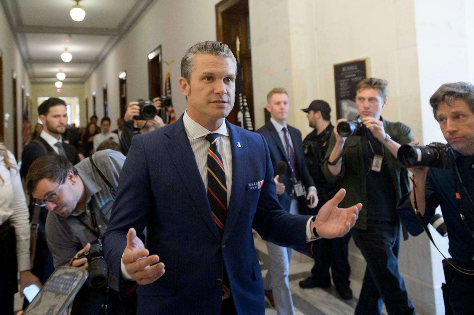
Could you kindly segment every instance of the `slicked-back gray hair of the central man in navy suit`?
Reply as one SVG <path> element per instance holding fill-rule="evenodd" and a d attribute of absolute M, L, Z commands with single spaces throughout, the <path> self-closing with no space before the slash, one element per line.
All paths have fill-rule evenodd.
<path fill-rule="evenodd" d="M 237 73 L 237 60 L 228 45 L 214 41 L 200 42 L 192 45 L 181 59 L 181 76 L 188 82 L 191 77 L 191 72 L 196 68 L 194 56 L 197 54 L 230 58 L 234 62 Z"/>

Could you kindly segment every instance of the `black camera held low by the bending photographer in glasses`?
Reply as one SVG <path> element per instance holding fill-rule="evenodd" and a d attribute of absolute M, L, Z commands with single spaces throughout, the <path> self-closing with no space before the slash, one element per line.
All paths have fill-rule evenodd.
<path fill-rule="evenodd" d="M 102 242 L 96 240 L 91 243 L 89 251 L 77 255 L 77 259 L 87 258 L 89 263 L 89 277 L 87 278 L 87 286 L 92 289 L 103 288 L 109 282 L 109 269 L 104 259 Z"/>

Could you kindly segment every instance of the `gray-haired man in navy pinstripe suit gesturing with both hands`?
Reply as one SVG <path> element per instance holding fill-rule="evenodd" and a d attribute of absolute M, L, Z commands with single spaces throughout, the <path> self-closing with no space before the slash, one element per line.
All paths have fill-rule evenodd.
<path fill-rule="evenodd" d="M 225 119 L 234 105 L 236 68 L 227 45 L 193 45 L 179 79 L 187 110 L 175 123 L 132 139 L 104 254 L 122 292 L 138 284 L 138 315 L 264 314 L 252 228 L 265 240 L 312 254 L 315 232 L 346 234 L 362 207 L 337 208 L 341 190 L 314 220 L 281 209 L 264 137 Z M 212 145 L 205 139 L 211 133 L 219 134 Z M 208 153 L 216 146 L 228 205 L 219 225 L 208 196 L 208 183 L 215 182 Z"/>

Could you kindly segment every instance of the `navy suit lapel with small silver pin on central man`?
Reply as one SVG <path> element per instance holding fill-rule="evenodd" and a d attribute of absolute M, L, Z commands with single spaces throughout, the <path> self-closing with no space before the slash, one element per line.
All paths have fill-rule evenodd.
<path fill-rule="evenodd" d="M 225 242 L 234 229 L 237 217 L 242 208 L 246 187 L 246 160 L 248 157 L 248 148 L 245 138 L 241 137 L 242 129 L 230 124 L 226 120 L 229 131 L 230 148 L 232 151 L 232 191 L 227 210 L 226 224 L 222 242 Z"/>

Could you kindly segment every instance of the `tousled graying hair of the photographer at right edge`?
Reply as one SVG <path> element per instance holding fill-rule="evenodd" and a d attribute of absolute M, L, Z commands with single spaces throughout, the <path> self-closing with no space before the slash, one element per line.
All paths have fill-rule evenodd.
<path fill-rule="evenodd" d="M 445 102 L 451 106 L 451 102 L 456 98 L 464 100 L 471 112 L 474 113 L 474 86 L 469 82 L 445 83 L 429 98 L 429 104 L 433 107 L 433 115 L 436 120 L 438 120 L 436 114 L 439 103 Z"/>

